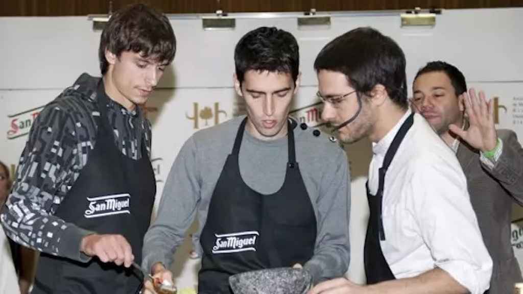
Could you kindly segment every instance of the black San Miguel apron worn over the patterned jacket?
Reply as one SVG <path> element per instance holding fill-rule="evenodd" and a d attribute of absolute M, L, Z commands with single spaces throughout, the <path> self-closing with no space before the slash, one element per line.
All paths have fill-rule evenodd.
<path fill-rule="evenodd" d="M 100 120 L 95 148 L 55 216 L 98 234 L 123 235 L 140 264 L 156 194 L 153 169 L 144 141 L 140 160 L 130 159 L 115 146 L 101 81 L 97 94 Z M 42 253 L 31 293 L 129 294 L 137 292 L 142 281 L 123 265 L 103 263 L 97 257 L 81 263 Z"/>

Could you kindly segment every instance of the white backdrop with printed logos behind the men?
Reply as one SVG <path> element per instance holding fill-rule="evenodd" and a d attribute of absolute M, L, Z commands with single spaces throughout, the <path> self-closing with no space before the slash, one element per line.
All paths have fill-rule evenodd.
<path fill-rule="evenodd" d="M 277 26 L 297 37 L 303 81 L 292 109 L 305 107 L 293 115 L 310 126 L 321 123 L 317 117 L 321 109 L 316 108 L 320 106 L 310 106 L 317 102 L 312 68 L 317 52 L 343 32 L 372 26 L 394 38 L 405 51 L 409 83 L 427 61 L 448 61 L 463 71 L 469 86 L 497 97 L 498 127 L 514 129 L 520 141 L 523 138 L 523 40 L 519 37 L 523 9 L 444 10 L 437 16 L 436 26 L 429 28 L 401 28 L 398 12 L 335 13 L 328 29 L 298 28 L 296 16 L 242 14 L 237 15 L 234 30 L 221 31 L 204 31 L 196 15 L 170 16 L 178 41 L 176 58 L 147 104 L 153 123 L 157 201 L 183 142 L 195 131 L 241 112 L 241 103 L 232 89 L 233 49 L 245 32 L 258 26 Z M 0 18 L 0 56 L 4 56 L 0 69 L 0 160 L 13 168 L 39 107 L 71 85 L 82 72 L 99 75 L 100 33 L 91 26 L 86 17 Z M 368 218 L 364 184 L 370 143 L 362 141 L 346 150 L 352 174 L 351 264 L 347 275 L 362 282 Z M 523 212 L 516 213 L 515 218 L 518 216 L 523 216 Z M 521 235 L 515 227 L 514 244 L 523 242 Z M 173 266 L 181 289 L 192 289 L 196 284 L 199 261 L 188 258 L 190 248 L 187 240 L 178 250 Z M 517 255 L 523 262 L 523 250 L 518 250 Z"/>

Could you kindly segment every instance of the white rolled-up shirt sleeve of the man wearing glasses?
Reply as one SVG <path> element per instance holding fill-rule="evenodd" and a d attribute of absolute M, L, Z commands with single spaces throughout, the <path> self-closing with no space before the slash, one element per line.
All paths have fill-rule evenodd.
<path fill-rule="evenodd" d="M 472 294 L 482 294 L 489 287 L 493 264 L 470 203 L 465 177 L 448 165 L 423 164 L 429 166 L 426 172 L 412 179 L 413 216 L 434 265 Z"/>

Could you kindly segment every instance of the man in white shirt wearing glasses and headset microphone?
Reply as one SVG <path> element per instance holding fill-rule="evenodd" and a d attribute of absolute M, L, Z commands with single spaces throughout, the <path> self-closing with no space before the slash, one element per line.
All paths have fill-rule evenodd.
<path fill-rule="evenodd" d="M 347 143 L 372 141 L 365 239 L 366 286 L 339 278 L 312 294 L 473 293 L 488 289 L 492 260 L 456 156 L 408 108 L 405 56 L 389 37 L 358 28 L 314 62 L 322 117 Z"/>

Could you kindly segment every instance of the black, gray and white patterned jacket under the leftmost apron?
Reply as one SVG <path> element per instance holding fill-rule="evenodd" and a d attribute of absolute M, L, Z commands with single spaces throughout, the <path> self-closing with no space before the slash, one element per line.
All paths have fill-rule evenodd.
<path fill-rule="evenodd" d="M 100 112 L 96 104 L 99 77 L 84 73 L 40 112 L 16 172 L 13 190 L 0 219 L 15 242 L 40 252 L 75 260 L 85 256 L 79 242 L 89 234 L 53 216 L 67 197 L 96 144 Z M 129 111 L 109 99 L 109 123 L 115 144 L 131 159 L 151 154 L 151 124 L 138 107 Z M 142 141 L 142 138 L 144 139 Z"/>

